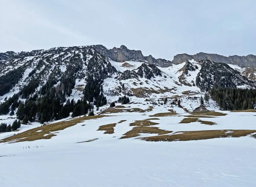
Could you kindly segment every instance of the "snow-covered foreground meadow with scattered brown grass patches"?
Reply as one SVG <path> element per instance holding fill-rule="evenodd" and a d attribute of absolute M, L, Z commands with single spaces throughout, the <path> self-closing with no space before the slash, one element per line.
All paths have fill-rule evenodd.
<path fill-rule="evenodd" d="M 0 134 L 0 186 L 256 186 L 255 112 L 193 116 L 179 107 L 149 106 L 117 106 L 101 118 Z"/>

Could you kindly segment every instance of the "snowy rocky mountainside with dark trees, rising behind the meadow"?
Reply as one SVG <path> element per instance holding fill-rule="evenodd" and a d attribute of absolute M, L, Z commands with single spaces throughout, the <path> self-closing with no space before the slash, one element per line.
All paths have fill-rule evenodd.
<path fill-rule="evenodd" d="M 58 47 L 1 54 L 0 102 L 5 103 L 6 99 L 18 97 L 14 106 L 14 99 L 7 101 L 2 114 L 17 114 L 20 102 L 26 104 L 31 101 L 28 107 L 36 108 L 40 105 L 40 111 L 38 109 L 33 112 L 29 119 L 39 121 L 41 116 L 46 116 L 44 118 L 47 120 L 44 121 L 48 121 L 68 116 L 68 113 L 63 114 L 64 105 L 71 100 L 84 100 L 86 106 L 82 104 L 78 110 L 85 107 L 98 112 L 102 106 L 107 107 L 123 96 L 130 97 L 131 102 L 143 104 L 163 104 L 166 98 L 166 104 L 177 104 L 177 100 L 180 100 L 181 106 L 192 111 L 200 105 L 201 96 L 214 86 L 255 87 L 253 81 L 224 63 L 192 59 L 180 64 L 160 66 L 159 63 L 147 61 L 140 51 L 129 50 L 125 46 L 107 51 L 102 48 Z M 107 55 L 102 55 L 103 52 Z M 121 54 L 122 58 L 116 56 L 115 52 Z M 46 101 L 49 106 L 44 106 Z M 209 109 L 218 108 L 212 100 L 205 105 Z M 46 111 L 52 109 L 45 115 L 43 108 Z M 74 108 L 71 108 L 72 114 Z M 24 116 L 20 115 L 19 118 Z"/>

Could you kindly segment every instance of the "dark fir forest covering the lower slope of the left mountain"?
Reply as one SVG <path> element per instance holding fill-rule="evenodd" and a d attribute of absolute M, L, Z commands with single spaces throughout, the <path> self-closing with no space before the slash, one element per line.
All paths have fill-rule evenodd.
<path fill-rule="evenodd" d="M 71 101 L 66 99 L 71 96 L 75 86 L 75 80 L 71 75 L 61 78 L 61 83 L 58 85 L 56 85 L 56 81 L 49 79 L 35 94 L 32 93 L 35 92 L 39 83 L 36 80 L 31 81 L 27 86 L 24 86 L 21 92 L 9 99 L 6 98 L 6 101 L 0 104 L 0 115 L 9 112 L 10 115 L 15 115 L 14 111 L 17 109 L 17 119 L 22 124 L 33 121 L 44 124 L 47 121 L 67 118 L 70 116 L 70 112 L 72 112 L 72 117 L 85 115 L 88 111 L 93 110 L 95 105 L 99 108 L 107 104 L 107 99 L 103 95 L 102 83 L 102 78 L 88 77 L 84 88 L 84 98 L 75 102 L 73 99 Z M 24 102 L 19 101 L 19 98 L 26 100 Z M 124 100 L 124 103 L 127 103 L 127 100 L 129 102 L 129 98 Z M 12 125 L 12 129 L 19 128 L 16 126 L 16 124 Z"/>

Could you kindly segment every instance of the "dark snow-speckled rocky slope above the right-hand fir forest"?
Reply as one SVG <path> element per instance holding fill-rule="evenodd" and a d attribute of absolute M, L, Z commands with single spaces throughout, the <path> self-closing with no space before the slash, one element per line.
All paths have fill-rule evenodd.
<path fill-rule="evenodd" d="M 225 63 L 215 63 L 211 60 L 200 60 L 202 67 L 196 77 L 196 86 L 208 91 L 212 87 L 236 88 L 248 85 L 255 88 L 255 82 L 240 75 L 240 73 Z"/>

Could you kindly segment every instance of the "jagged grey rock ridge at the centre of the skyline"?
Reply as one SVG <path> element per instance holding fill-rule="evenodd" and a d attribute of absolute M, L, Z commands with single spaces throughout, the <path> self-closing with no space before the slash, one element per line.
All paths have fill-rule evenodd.
<path fill-rule="evenodd" d="M 100 54 L 104 55 L 106 58 L 110 58 L 116 62 L 125 62 L 128 60 L 135 60 L 140 62 L 145 62 L 149 64 L 154 64 L 160 67 L 172 66 L 172 62 L 165 59 L 155 59 L 151 55 L 143 56 L 140 50 L 130 50 L 126 46 L 122 45 L 120 48 L 114 47 L 113 49 L 107 49 L 102 45 L 93 46 Z"/>

